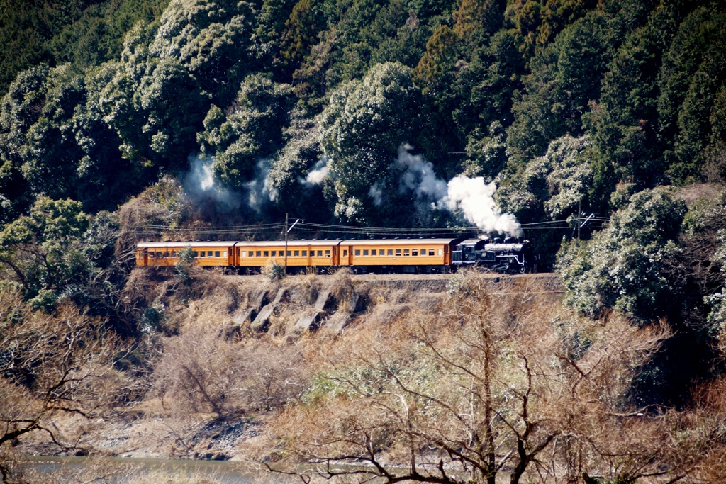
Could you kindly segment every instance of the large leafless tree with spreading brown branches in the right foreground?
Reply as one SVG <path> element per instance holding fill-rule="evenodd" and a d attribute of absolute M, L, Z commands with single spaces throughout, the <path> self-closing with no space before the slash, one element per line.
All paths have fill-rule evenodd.
<path fill-rule="evenodd" d="M 276 458 L 323 477 L 347 462 L 386 482 L 439 483 L 494 483 L 500 471 L 511 483 L 631 482 L 673 462 L 663 419 L 624 398 L 666 329 L 580 318 L 531 280 L 503 288 L 465 274 L 460 285 L 439 313 L 317 340 L 302 403 L 272 423 Z"/>

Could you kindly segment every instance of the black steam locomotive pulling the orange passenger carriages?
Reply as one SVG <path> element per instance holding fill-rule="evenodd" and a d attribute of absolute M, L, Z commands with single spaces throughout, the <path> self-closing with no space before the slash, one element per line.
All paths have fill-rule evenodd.
<path fill-rule="evenodd" d="M 477 267 L 494 272 L 524 274 L 534 271 L 536 262 L 529 240 L 506 237 L 466 239 L 452 252 L 452 264 L 458 267 Z"/>

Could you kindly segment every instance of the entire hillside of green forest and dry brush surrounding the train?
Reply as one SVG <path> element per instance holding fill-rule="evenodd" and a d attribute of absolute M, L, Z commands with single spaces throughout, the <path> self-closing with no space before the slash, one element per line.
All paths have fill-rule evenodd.
<path fill-rule="evenodd" d="M 446 455 L 447 466 L 471 466 L 472 480 L 491 482 L 500 448 L 456 464 L 458 447 L 446 439 L 466 447 L 466 432 L 494 432 L 482 422 L 501 395 L 515 402 L 497 407 L 497 419 L 510 422 L 496 430 L 507 435 L 502 452 L 513 452 L 502 468 L 521 470 L 522 480 L 550 482 L 535 456 L 542 449 L 552 451 L 552 472 L 608 482 L 726 475 L 715 464 L 726 443 L 714 430 L 725 406 L 725 2 L 4 0 L 0 12 L 0 397 L 12 402 L 0 409 L 4 475 L 20 443 L 75 449 L 53 427 L 60 415 L 118 424 L 140 409 L 162 421 L 182 411 L 189 422 L 265 414 L 272 440 L 235 454 L 258 462 L 355 455 L 375 465 L 374 446 L 401 464 L 406 445 L 396 436 L 407 435 L 409 447 L 433 449 L 409 449 L 429 477 L 444 479 L 449 467 L 431 459 Z M 414 290 L 343 273 L 280 282 L 279 267 L 240 280 L 189 261 L 134 268 L 139 240 L 277 239 L 288 214 L 306 221 L 290 232 L 298 239 L 403 234 L 393 229 L 521 236 L 562 293 L 501 294 L 476 274 Z M 338 290 L 360 306 L 314 308 L 331 281 L 348 281 Z M 261 299 L 252 305 L 255 284 Z M 275 302 L 280 287 L 271 284 L 289 291 Z M 205 298 L 216 302 L 206 307 Z M 499 298 L 510 319 L 482 309 Z M 539 311 L 534 326 L 525 323 L 529 304 Z M 269 317 L 255 327 L 266 305 Z M 197 380 L 232 385 L 219 390 L 221 401 L 168 363 L 191 357 L 181 348 L 197 341 L 232 361 L 224 372 L 190 363 Z M 462 341 L 495 352 L 468 353 Z M 627 364 L 606 349 L 622 341 Z M 519 345 L 542 365 L 536 385 L 529 353 L 511 353 Z M 265 348 L 300 358 L 298 386 L 266 409 L 258 390 L 226 407 L 224 395 L 241 391 L 232 382 L 252 378 L 240 355 Z M 597 378 L 587 380 L 579 361 L 600 357 L 611 366 L 593 367 Z M 560 380 L 544 378 L 545 361 Z M 492 362 L 504 385 L 496 395 L 491 385 L 467 387 L 454 369 L 478 382 Z M 587 380 L 589 397 L 572 372 Z M 160 383 L 163 374 L 173 381 Z M 528 379 L 546 410 L 536 422 L 517 417 Z M 190 403 L 147 407 L 167 394 Z M 408 430 L 399 403 L 386 400 L 393 394 L 415 416 Z M 437 437 L 422 398 L 445 419 L 463 419 L 473 398 L 488 417 L 477 414 L 466 432 L 446 420 L 464 433 Z M 582 411 L 589 420 L 558 413 L 587 398 L 598 402 Z M 340 441 L 335 425 L 369 404 L 388 413 Z M 325 411 L 338 420 L 326 422 Z M 592 434 L 593 422 L 605 437 Z M 77 423 L 68 428 L 86 428 Z M 316 449 L 295 425 L 335 445 Z M 641 425 L 673 447 L 635 442 Z M 573 432 L 588 437 L 575 442 L 566 437 Z M 635 477 L 592 450 L 618 438 L 635 439 L 641 452 L 627 454 Z M 415 469 L 409 477 L 420 480 Z"/>

